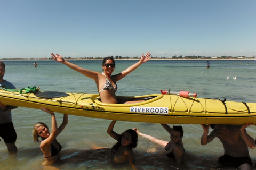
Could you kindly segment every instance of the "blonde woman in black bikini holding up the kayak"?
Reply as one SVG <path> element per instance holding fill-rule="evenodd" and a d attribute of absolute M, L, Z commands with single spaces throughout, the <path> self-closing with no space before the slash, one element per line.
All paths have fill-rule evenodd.
<path fill-rule="evenodd" d="M 42 166 L 50 166 L 53 163 L 57 162 L 57 160 L 60 160 L 61 145 L 56 140 L 56 137 L 68 124 L 68 115 L 63 115 L 63 122 L 59 126 L 59 128 L 57 128 L 57 122 L 54 112 L 50 111 L 46 107 L 41 107 L 41 109 L 44 112 L 51 114 L 52 116 L 52 133 L 50 134 L 49 128 L 45 123 L 38 122 L 34 125 L 33 137 L 34 142 L 39 142 L 38 138 L 42 138 L 42 141 L 40 143 L 40 149 L 44 155 L 44 162 L 42 163 Z"/>

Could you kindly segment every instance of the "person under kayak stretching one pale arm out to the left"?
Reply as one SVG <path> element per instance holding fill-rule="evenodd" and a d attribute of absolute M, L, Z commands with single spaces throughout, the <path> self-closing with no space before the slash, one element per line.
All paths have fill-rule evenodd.
<path fill-rule="evenodd" d="M 142 137 L 155 142 L 156 144 L 165 147 L 166 155 L 170 158 L 175 158 L 177 164 L 181 164 L 183 155 L 185 154 L 185 149 L 182 142 L 183 137 L 183 128 L 182 126 L 173 126 L 171 128 L 167 124 L 161 124 L 163 128 L 170 133 L 171 140 L 163 141 L 156 139 L 154 137 L 151 137 L 150 135 L 140 133 L 137 128 L 134 128 L 134 130 L 137 132 L 138 135 L 141 135 Z"/>

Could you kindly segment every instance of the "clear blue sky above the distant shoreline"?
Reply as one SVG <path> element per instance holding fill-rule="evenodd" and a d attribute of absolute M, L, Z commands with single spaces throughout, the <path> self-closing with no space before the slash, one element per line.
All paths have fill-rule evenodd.
<path fill-rule="evenodd" d="M 256 55 L 255 0 L 0 1 L 0 58 Z"/>

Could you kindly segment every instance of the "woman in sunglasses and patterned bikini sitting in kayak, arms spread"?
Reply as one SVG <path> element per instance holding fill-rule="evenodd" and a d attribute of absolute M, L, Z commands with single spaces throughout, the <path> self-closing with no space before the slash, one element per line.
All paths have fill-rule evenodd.
<path fill-rule="evenodd" d="M 128 67 L 126 70 L 122 71 L 121 73 L 112 75 L 116 65 L 115 65 L 114 59 L 111 57 L 104 58 L 102 62 L 103 73 L 99 73 L 99 72 L 83 69 L 78 65 L 70 63 L 64 60 L 64 58 L 59 54 L 54 55 L 52 53 L 51 55 L 55 61 L 58 61 L 60 63 L 67 65 L 71 69 L 84 74 L 86 77 L 92 78 L 97 84 L 101 101 L 103 103 L 109 103 L 109 104 L 118 103 L 116 94 L 115 94 L 117 90 L 116 82 L 124 78 L 127 74 L 131 73 L 132 71 L 137 69 L 142 63 L 147 62 L 151 58 L 151 54 L 149 52 L 146 54 L 146 56 L 142 54 L 139 62 Z M 128 102 L 138 103 L 139 101 L 128 101 Z"/>

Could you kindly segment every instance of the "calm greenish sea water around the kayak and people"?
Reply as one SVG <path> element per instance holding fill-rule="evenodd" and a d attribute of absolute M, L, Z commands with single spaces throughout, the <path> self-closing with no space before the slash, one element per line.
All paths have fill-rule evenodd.
<path fill-rule="evenodd" d="M 42 91 L 90 92 L 97 93 L 95 82 L 55 61 L 4 61 L 4 79 L 18 89 L 36 86 Z M 72 61 L 89 70 L 102 72 L 102 61 Z M 134 64 L 134 60 L 117 60 L 114 73 L 119 73 Z M 255 102 L 256 61 L 253 60 L 210 60 L 210 69 L 205 60 L 150 60 L 137 70 L 118 81 L 117 95 L 133 96 L 156 94 L 160 90 L 196 92 L 200 98 L 226 98 L 233 101 Z M 227 77 L 229 76 L 229 79 Z M 237 77 L 234 80 L 232 77 Z M 6 146 L 0 141 L 1 169 L 41 169 L 44 158 L 39 143 L 33 142 L 33 125 L 42 121 L 51 124 L 51 118 L 43 111 L 19 107 L 13 112 L 13 123 L 17 131 L 18 155 L 8 157 Z M 57 122 L 62 114 L 57 113 Z M 111 147 L 116 142 L 107 133 L 110 120 L 69 115 L 66 129 L 58 136 L 62 145 L 60 169 L 130 169 L 130 165 L 113 166 L 109 160 L 109 149 L 93 150 L 92 146 Z M 171 125 L 172 126 L 172 125 Z M 203 133 L 201 125 L 182 125 L 185 131 L 183 143 L 186 149 L 184 169 L 211 169 L 223 155 L 223 147 L 218 139 L 201 146 Z M 170 140 L 170 135 L 159 124 L 118 121 L 114 130 L 121 133 L 126 129 L 138 128 L 142 133 L 162 140 Z M 247 132 L 256 137 L 255 126 Z M 156 150 L 148 153 L 149 150 Z M 253 163 L 256 150 L 249 149 Z M 177 169 L 166 157 L 162 147 L 139 137 L 134 149 L 138 169 Z M 182 169 L 182 168 L 179 168 Z"/>

